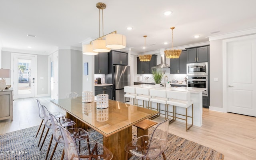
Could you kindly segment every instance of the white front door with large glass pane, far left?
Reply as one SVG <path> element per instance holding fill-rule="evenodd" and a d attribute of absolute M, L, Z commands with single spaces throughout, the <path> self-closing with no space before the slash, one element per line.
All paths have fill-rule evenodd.
<path fill-rule="evenodd" d="M 13 54 L 14 99 L 35 97 L 36 56 Z"/>

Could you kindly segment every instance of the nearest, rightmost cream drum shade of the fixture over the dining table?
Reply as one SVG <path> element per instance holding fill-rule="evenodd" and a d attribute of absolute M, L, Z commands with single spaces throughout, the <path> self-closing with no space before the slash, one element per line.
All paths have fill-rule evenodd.
<path fill-rule="evenodd" d="M 126 47 L 126 36 L 122 34 L 106 35 L 106 47 L 113 49 L 122 49 Z"/>

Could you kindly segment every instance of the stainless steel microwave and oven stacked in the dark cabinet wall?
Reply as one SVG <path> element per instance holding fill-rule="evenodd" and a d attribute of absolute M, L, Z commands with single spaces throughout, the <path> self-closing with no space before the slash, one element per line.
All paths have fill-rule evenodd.
<path fill-rule="evenodd" d="M 206 88 L 203 96 L 208 96 L 208 62 L 187 64 L 187 86 Z"/>

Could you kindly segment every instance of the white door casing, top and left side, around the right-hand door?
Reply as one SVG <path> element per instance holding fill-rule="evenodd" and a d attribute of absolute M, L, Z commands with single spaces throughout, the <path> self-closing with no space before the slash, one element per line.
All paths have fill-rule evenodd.
<path fill-rule="evenodd" d="M 238 38 L 231 38 L 227 40 L 222 41 L 222 65 L 223 65 L 223 112 L 228 112 L 228 77 L 227 77 L 227 44 L 229 42 L 235 42 L 235 41 L 242 41 L 242 40 L 248 40 L 248 39 L 255 39 L 256 34 L 250 35 L 250 36 L 242 36 Z"/>

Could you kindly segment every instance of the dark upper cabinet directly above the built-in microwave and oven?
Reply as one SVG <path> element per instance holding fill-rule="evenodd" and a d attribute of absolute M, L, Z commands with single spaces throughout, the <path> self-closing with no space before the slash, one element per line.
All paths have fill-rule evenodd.
<path fill-rule="evenodd" d="M 208 62 L 208 46 L 187 48 L 187 63 Z"/>

